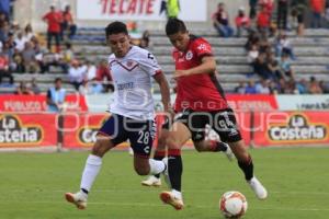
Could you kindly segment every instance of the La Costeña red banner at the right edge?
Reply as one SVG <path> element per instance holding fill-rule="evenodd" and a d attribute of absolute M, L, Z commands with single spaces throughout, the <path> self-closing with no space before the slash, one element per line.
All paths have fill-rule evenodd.
<path fill-rule="evenodd" d="M 329 112 L 254 114 L 258 147 L 329 145 Z"/>

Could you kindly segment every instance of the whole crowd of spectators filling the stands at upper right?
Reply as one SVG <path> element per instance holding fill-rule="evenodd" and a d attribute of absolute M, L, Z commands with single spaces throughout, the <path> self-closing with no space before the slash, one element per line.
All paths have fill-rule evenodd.
<path fill-rule="evenodd" d="M 235 92 L 241 94 L 319 94 L 329 93 L 328 82 L 317 81 L 313 76 L 309 81 L 296 81 L 291 65 L 297 57 L 286 35 L 296 30 L 303 36 L 305 10 L 311 10 L 310 27 L 328 27 L 329 1 L 325 0 L 279 0 L 276 11 L 274 0 L 250 0 L 250 13 L 243 7 L 238 9 L 234 28 L 224 3 L 218 3 L 213 14 L 213 24 L 222 37 L 247 35 L 247 60 L 253 71 L 246 81 L 239 83 Z M 274 12 L 276 19 L 274 21 Z M 291 14 L 291 15 L 290 15 Z M 257 81 L 253 76 L 260 79 Z M 251 79 L 252 78 L 252 79 Z"/>

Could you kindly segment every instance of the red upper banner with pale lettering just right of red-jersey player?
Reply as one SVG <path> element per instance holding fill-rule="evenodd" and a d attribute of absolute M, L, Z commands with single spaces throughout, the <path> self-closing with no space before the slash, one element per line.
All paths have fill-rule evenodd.
<path fill-rule="evenodd" d="M 277 103 L 275 95 L 266 94 L 252 94 L 252 95 L 241 95 L 241 94 L 228 94 L 228 104 L 235 111 L 273 111 L 277 110 Z"/>

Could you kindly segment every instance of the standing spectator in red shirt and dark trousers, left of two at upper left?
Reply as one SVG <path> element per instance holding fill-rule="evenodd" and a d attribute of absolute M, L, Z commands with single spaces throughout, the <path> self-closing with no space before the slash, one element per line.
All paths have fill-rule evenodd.
<path fill-rule="evenodd" d="M 52 50 L 52 39 L 55 37 L 56 42 L 56 53 L 60 51 L 59 42 L 60 42 L 60 23 L 61 14 L 55 10 L 55 5 L 50 5 L 50 11 L 43 16 L 43 21 L 48 23 L 47 30 L 47 47 L 48 50 Z"/>

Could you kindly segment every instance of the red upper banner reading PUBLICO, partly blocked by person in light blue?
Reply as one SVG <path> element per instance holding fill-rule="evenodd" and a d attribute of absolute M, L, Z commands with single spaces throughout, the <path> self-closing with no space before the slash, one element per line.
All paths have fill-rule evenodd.
<path fill-rule="evenodd" d="M 68 94 L 66 96 L 68 112 L 87 112 L 83 95 Z M 0 112 L 47 112 L 46 95 L 0 95 Z"/>

